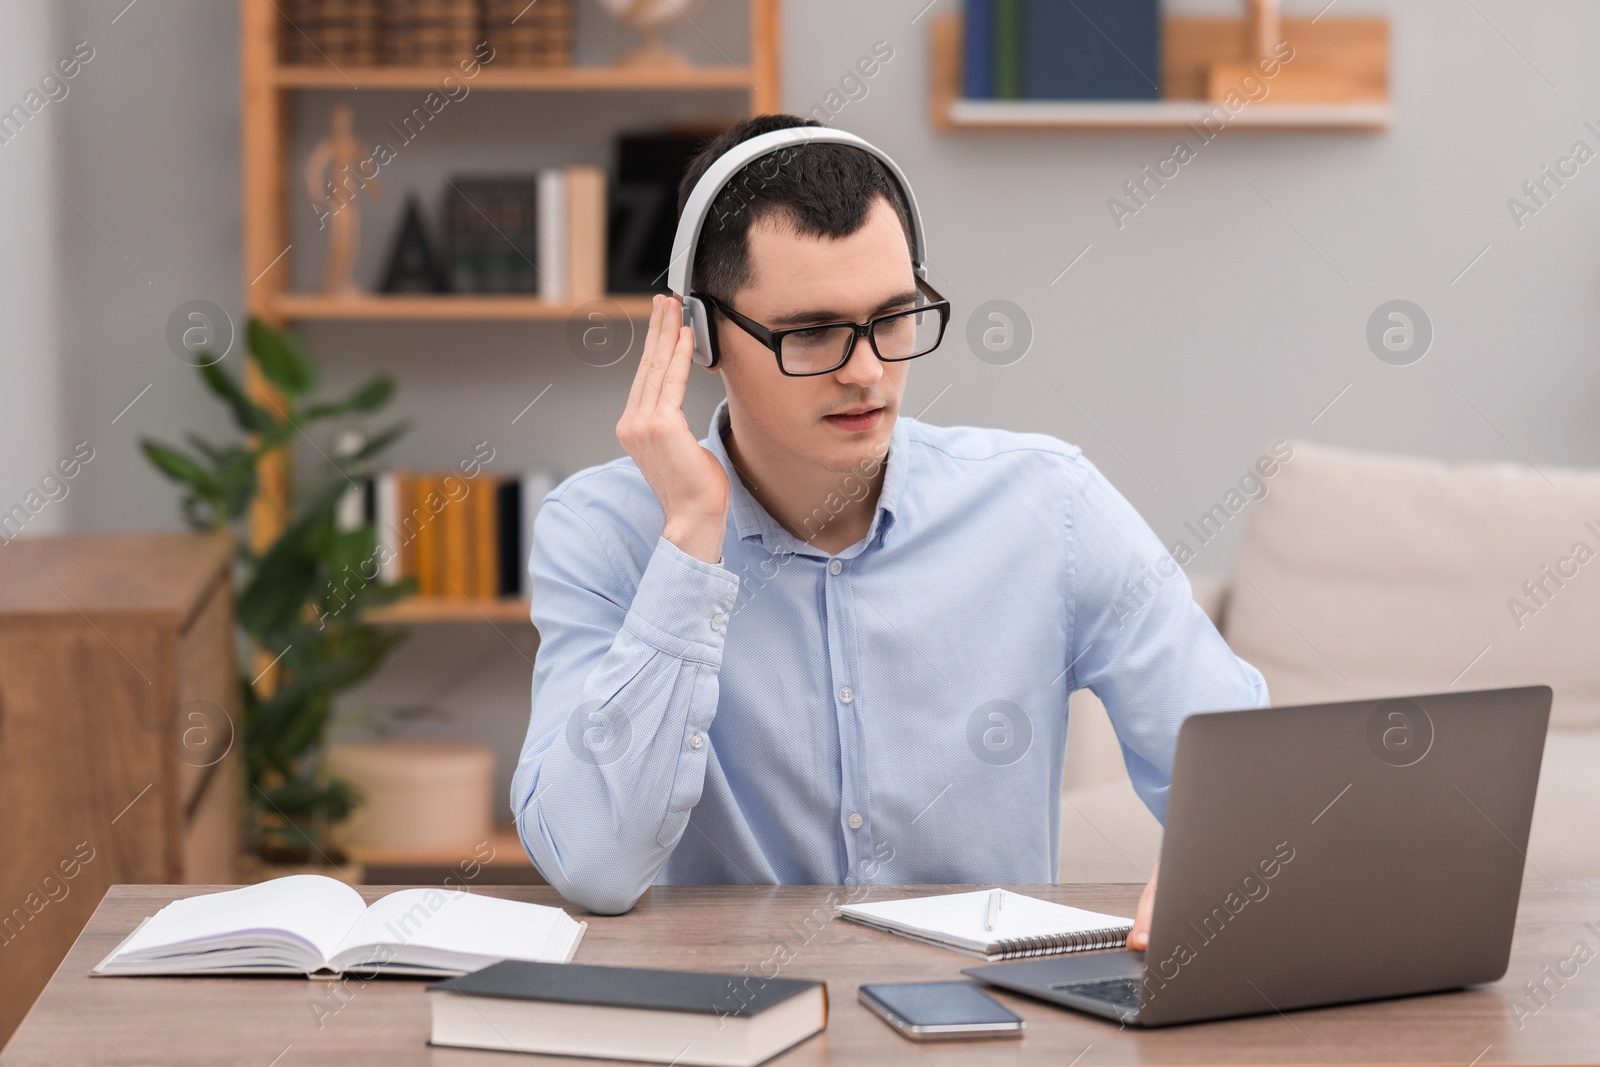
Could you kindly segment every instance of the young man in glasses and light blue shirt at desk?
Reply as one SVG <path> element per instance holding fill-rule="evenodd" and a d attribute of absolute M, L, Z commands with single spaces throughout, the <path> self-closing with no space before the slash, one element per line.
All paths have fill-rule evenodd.
<path fill-rule="evenodd" d="M 680 211 L 728 147 L 798 125 L 819 123 L 762 115 L 707 146 Z M 691 331 L 658 298 L 627 458 L 539 512 L 522 840 L 600 913 L 653 883 L 1054 881 L 1074 689 L 1162 817 L 1179 721 L 1262 705 L 1266 683 L 1078 448 L 902 413 L 942 298 L 875 157 L 808 144 L 725 197 L 694 270 L 728 394 L 709 432 L 682 410 Z"/>

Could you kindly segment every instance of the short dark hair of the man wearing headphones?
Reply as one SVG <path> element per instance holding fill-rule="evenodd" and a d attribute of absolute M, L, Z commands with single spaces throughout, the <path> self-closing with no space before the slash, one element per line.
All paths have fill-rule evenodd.
<path fill-rule="evenodd" d="M 755 115 L 728 128 L 690 162 L 678 182 L 678 216 L 701 174 L 733 146 L 773 130 L 821 125 L 798 115 Z M 848 144 L 800 144 L 752 160 L 712 200 L 694 253 L 694 290 L 731 301 L 755 280 L 749 237 L 757 219 L 782 214 L 802 237 L 850 237 L 866 224 L 877 197 L 888 198 L 910 246 L 910 216 L 899 186 L 870 152 Z"/>

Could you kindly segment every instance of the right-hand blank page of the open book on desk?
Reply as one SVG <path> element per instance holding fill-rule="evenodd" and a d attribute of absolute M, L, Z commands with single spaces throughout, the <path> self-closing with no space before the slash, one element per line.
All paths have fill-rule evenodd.
<path fill-rule="evenodd" d="M 574 925 L 558 907 L 461 889 L 400 889 L 374 901 L 338 952 L 389 944 L 402 945 L 395 960 L 405 960 L 411 945 L 496 960 L 565 961 Z"/>

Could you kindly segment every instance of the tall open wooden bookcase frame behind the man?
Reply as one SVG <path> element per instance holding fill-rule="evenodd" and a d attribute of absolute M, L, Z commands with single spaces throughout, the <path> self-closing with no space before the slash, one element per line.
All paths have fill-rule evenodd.
<path fill-rule="evenodd" d="M 485 67 L 472 88 L 533 93 L 674 93 L 725 90 L 744 93 L 747 114 L 779 110 L 778 32 L 779 0 L 746 0 L 750 13 L 749 59 L 744 64 L 638 67 Z M 334 67 L 285 64 L 275 0 L 240 0 L 242 142 L 243 142 L 243 275 L 246 310 L 272 325 L 290 322 L 541 322 L 570 317 L 582 301 L 552 304 L 526 296 L 362 296 L 330 298 L 290 290 L 293 250 L 288 242 L 291 182 L 290 94 L 301 91 L 354 93 L 358 90 L 430 90 L 440 83 L 435 67 Z M 624 314 L 650 315 L 650 296 L 606 296 Z M 277 402 L 269 382 L 251 373 L 246 382 L 258 400 Z M 251 504 L 250 539 L 256 549 L 277 537 L 285 523 L 290 470 L 286 451 L 262 461 L 262 490 Z M 526 600 L 414 598 L 373 614 L 402 622 L 528 622 Z"/>

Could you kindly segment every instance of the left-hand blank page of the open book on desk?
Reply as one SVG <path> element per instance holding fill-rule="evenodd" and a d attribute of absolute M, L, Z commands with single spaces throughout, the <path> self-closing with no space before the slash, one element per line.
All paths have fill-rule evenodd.
<path fill-rule="evenodd" d="M 173 901 L 134 931 L 120 953 L 160 952 L 190 941 L 274 929 L 299 934 L 326 960 L 363 910 L 362 894 L 338 878 L 285 875 L 242 889 Z"/>

